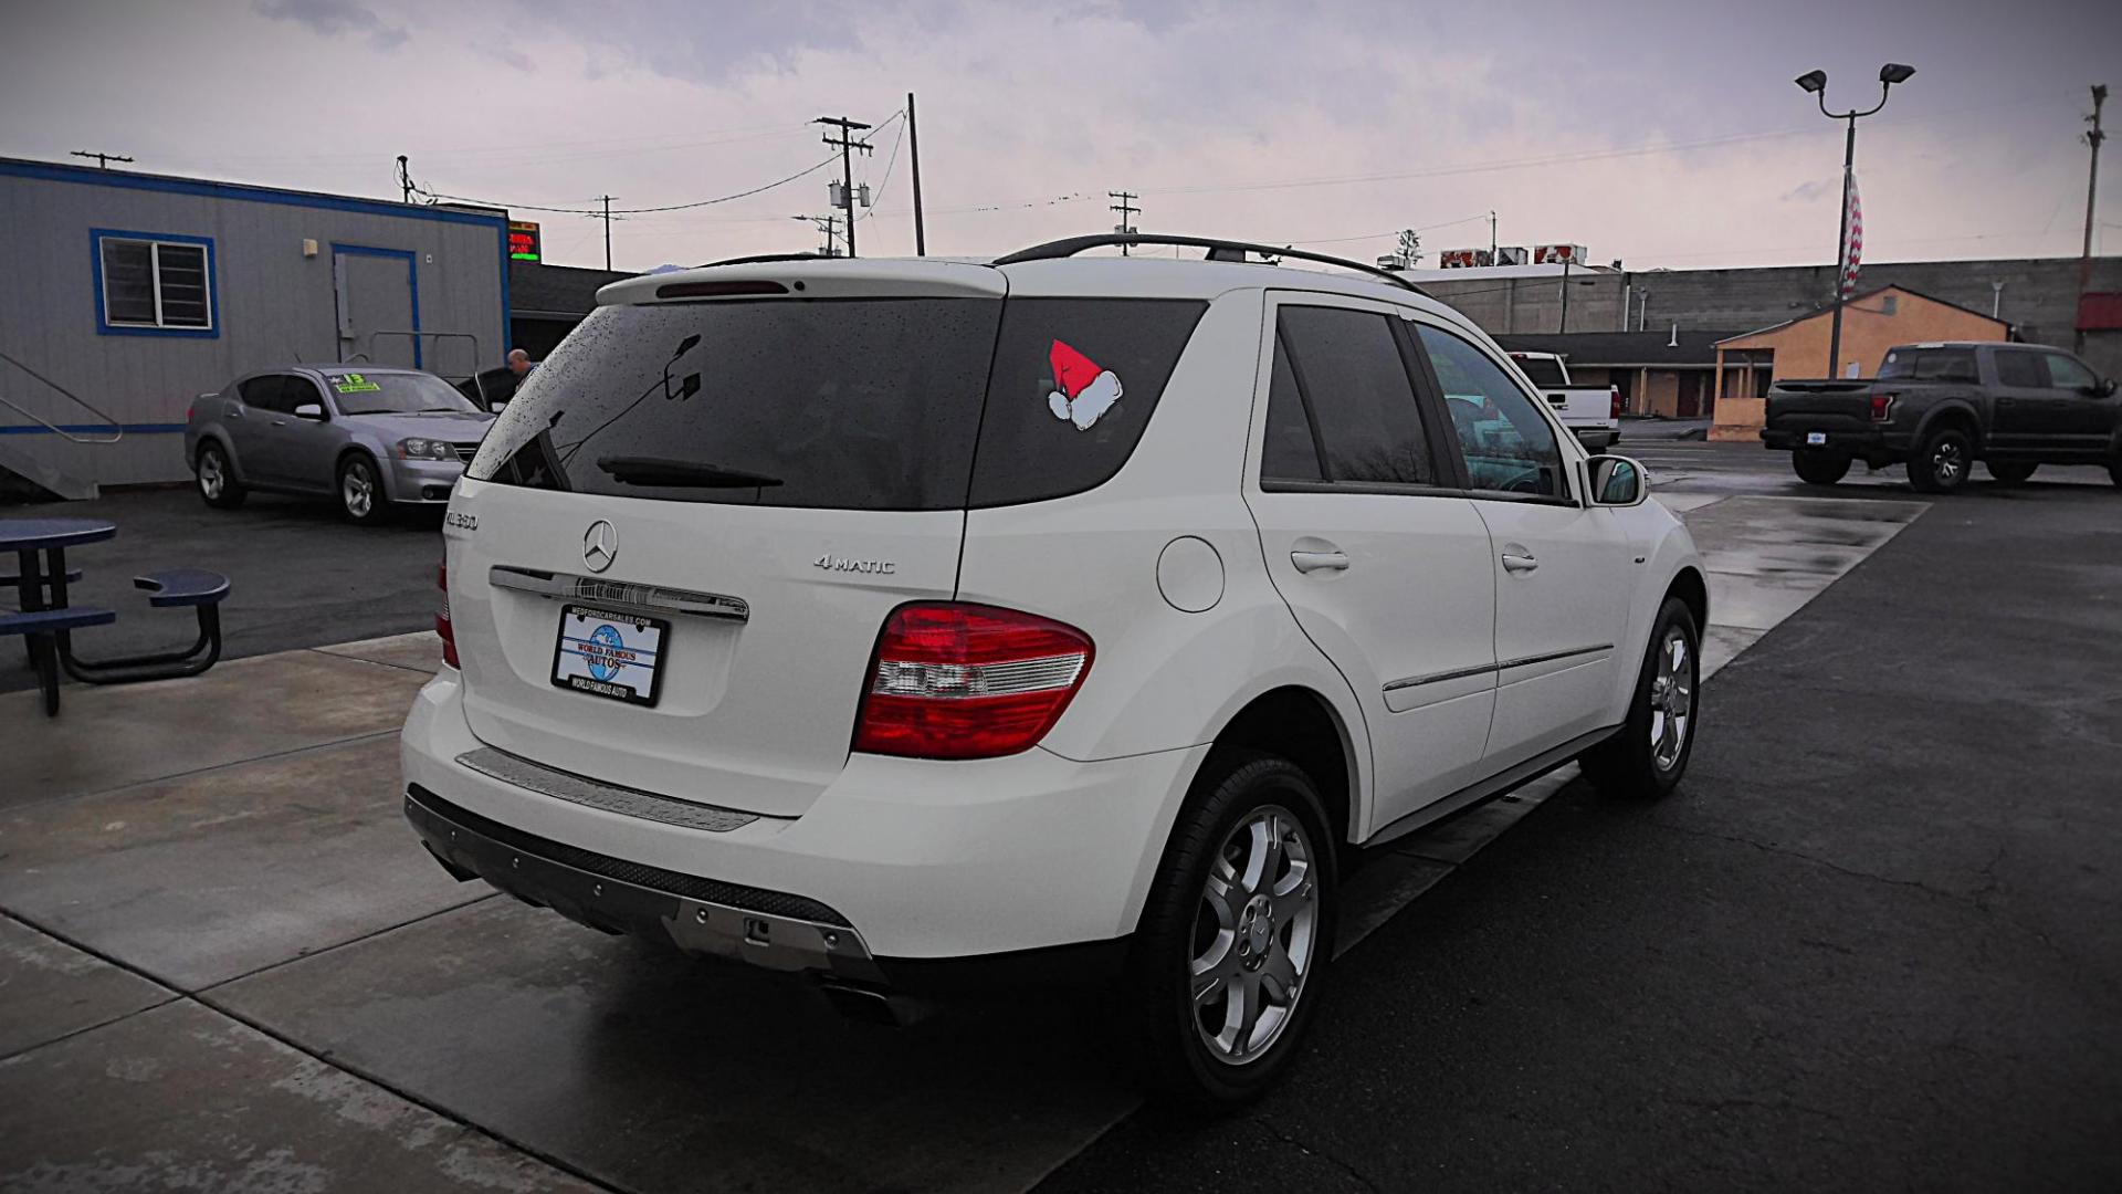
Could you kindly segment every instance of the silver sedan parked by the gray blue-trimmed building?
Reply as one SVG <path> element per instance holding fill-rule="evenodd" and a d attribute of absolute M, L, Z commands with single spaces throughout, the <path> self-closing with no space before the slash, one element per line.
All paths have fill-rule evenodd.
<path fill-rule="evenodd" d="M 291 365 L 202 395 L 185 463 L 216 510 L 257 491 L 333 497 L 354 523 L 443 504 L 494 416 L 435 374 Z"/>

